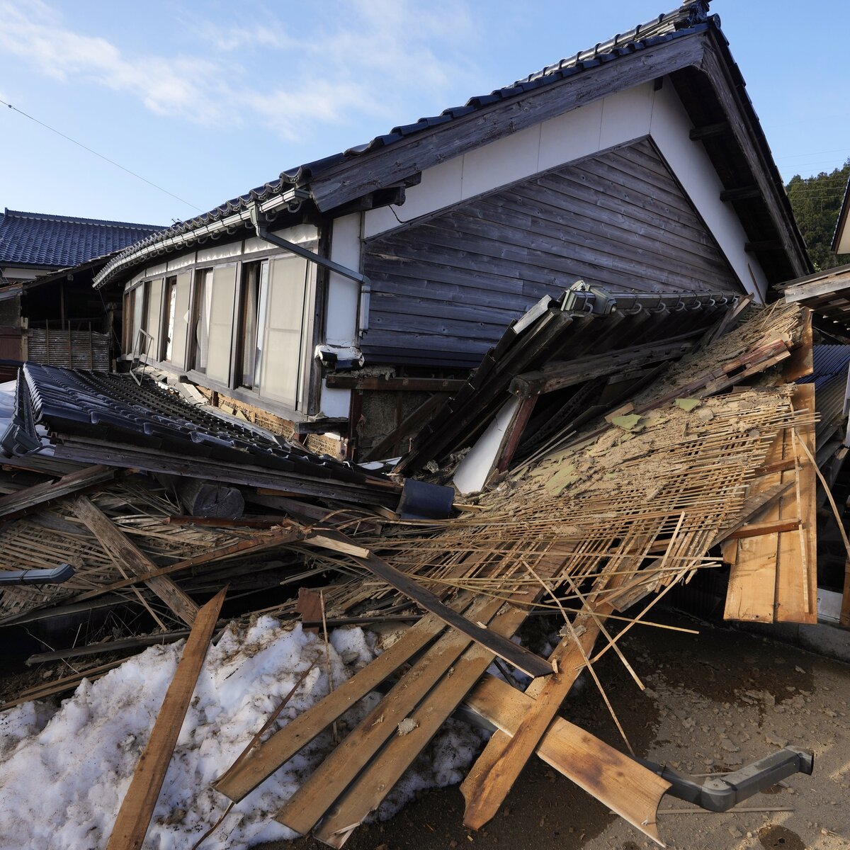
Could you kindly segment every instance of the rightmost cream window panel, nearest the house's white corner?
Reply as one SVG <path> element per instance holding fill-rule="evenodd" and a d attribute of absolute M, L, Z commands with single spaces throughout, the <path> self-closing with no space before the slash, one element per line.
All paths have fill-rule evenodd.
<path fill-rule="evenodd" d="M 302 363 L 302 329 L 307 260 L 285 257 L 270 262 L 263 375 L 260 396 L 296 407 Z"/>

